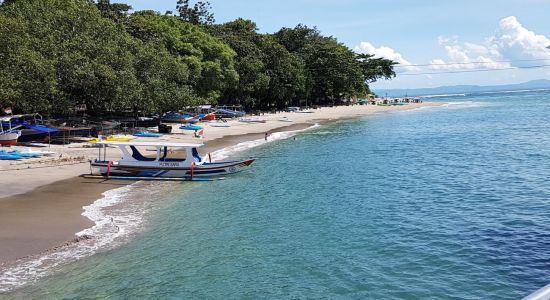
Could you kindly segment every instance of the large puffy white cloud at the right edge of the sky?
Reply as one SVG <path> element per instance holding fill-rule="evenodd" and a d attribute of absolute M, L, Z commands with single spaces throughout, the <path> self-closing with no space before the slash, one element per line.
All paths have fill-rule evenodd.
<path fill-rule="evenodd" d="M 550 59 L 546 49 L 550 39 L 523 27 L 514 16 L 500 20 L 495 34 L 483 44 L 459 43 L 456 36 L 440 36 L 438 42 L 447 59 L 430 61 L 434 70 L 525 67 L 541 64 L 536 59 Z"/>

